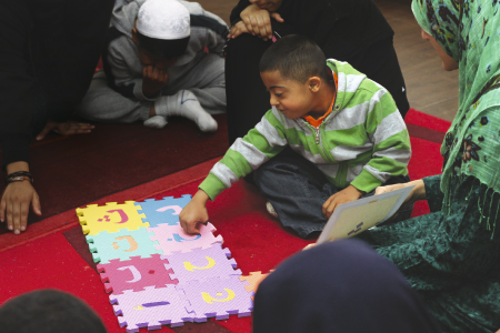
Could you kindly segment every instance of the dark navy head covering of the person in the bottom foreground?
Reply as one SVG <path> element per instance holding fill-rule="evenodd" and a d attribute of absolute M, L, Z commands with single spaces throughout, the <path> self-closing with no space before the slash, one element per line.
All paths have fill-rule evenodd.
<path fill-rule="evenodd" d="M 259 285 L 256 333 L 438 333 L 398 269 L 368 244 L 339 240 L 297 253 Z"/>

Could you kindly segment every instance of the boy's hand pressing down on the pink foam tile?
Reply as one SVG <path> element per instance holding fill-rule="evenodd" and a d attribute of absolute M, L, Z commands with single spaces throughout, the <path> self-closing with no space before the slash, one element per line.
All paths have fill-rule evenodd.
<path fill-rule="evenodd" d="M 200 233 L 200 223 L 208 222 L 207 201 L 209 196 L 202 190 L 198 190 L 191 201 L 179 214 L 179 222 L 187 233 Z"/>

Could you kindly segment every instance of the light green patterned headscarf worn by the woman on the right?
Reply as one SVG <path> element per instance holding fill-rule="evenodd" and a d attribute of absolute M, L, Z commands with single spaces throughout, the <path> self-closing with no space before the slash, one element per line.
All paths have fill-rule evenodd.
<path fill-rule="evenodd" d="M 459 62 L 459 109 L 441 147 L 444 205 L 453 176 L 477 178 L 492 201 L 500 193 L 500 0 L 413 0 L 411 7 Z"/>

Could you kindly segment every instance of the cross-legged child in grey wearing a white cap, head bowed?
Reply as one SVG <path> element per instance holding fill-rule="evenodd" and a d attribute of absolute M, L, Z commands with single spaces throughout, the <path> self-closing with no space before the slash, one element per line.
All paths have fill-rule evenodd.
<path fill-rule="evenodd" d="M 197 2 L 134 0 L 117 4 L 102 54 L 79 115 L 163 128 L 186 117 L 203 132 L 226 111 L 222 48 L 228 27 Z M 208 51 L 208 52 L 207 52 Z"/>

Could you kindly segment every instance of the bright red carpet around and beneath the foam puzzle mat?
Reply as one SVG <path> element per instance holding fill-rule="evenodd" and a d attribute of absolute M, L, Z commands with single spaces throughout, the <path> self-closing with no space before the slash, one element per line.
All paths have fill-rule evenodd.
<path fill-rule="evenodd" d="M 410 176 L 418 179 L 439 173 L 442 159 L 439 154 L 438 139 L 439 135 L 442 138 L 447 122 L 418 111 L 411 111 L 407 120 L 413 147 L 409 167 Z M 169 145 L 166 144 L 166 147 Z M 86 204 L 193 194 L 200 180 L 216 160 L 108 196 L 101 195 Z M 70 208 L 67 206 L 67 209 Z M 276 220 L 269 218 L 264 210 L 264 200 L 244 182 L 239 182 L 230 190 L 224 191 L 214 203 L 209 204 L 208 209 L 210 221 L 223 236 L 224 246 L 231 250 L 232 256 L 243 274 L 253 271 L 268 272 L 280 261 L 312 242 L 298 239 L 283 230 Z M 414 214 L 424 213 L 426 210 L 428 208 L 420 204 L 416 206 Z M 34 223 L 21 236 L 0 235 L 0 244 L 6 244 L 0 248 L 0 266 L 2 268 L 0 271 L 0 304 L 12 296 L 34 289 L 57 287 L 68 291 L 90 304 L 102 317 L 110 333 L 124 332 L 124 329 L 118 326 L 103 285 L 92 269 L 90 253 L 81 229 L 78 226 L 74 210 L 71 209 L 51 219 Z M 190 323 L 183 327 L 162 327 L 160 330 L 160 332 L 172 331 L 251 332 L 251 317 L 230 317 L 228 321 L 204 324 Z M 141 332 L 147 332 L 147 330 L 141 330 Z"/>

